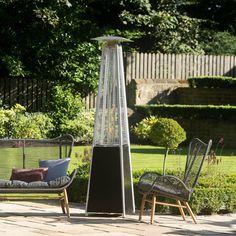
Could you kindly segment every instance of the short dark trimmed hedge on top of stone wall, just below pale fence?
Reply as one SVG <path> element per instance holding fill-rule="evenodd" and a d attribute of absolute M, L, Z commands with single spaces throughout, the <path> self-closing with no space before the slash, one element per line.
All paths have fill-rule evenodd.
<path fill-rule="evenodd" d="M 199 76 L 187 80 L 191 88 L 236 88 L 236 78 L 228 76 Z"/>

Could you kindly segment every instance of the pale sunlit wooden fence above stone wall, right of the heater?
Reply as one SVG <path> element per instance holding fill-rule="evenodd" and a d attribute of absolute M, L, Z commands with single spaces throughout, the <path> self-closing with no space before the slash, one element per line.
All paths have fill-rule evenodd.
<path fill-rule="evenodd" d="M 236 77 L 236 56 L 131 53 L 126 55 L 126 81 L 186 80 L 190 76 Z"/>

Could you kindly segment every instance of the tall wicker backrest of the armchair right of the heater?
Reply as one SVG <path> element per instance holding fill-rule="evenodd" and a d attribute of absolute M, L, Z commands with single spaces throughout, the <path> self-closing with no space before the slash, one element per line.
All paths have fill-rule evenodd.
<path fill-rule="evenodd" d="M 211 145 L 212 140 L 209 140 L 207 144 L 198 138 L 190 141 L 183 179 L 189 189 L 193 189 L 197 184 L 203 162 L 210 151 Z"/>

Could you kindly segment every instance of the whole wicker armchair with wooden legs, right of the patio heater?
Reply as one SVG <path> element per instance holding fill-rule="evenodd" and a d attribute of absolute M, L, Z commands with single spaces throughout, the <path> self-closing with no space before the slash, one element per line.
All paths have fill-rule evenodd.
<path fill-rule="evenodd" d="M 197 184 L 204 159 L 208 155 L 211 145 L 211 140 L 209 140 L 208 144 L 203 143 L 197 138 L 191 140 L 182 180 L 173 175 L 161 175 L 157 172 L 146 172 L 141 176 L 138 183 L 139 192 L 143 195 L 139 214 L 140 221 L 142 219 L 145 202 L 148 202 L 151 204 L 151 224 L 154 222 L 156 204 L 179 208 L 180 214 L 184 220 L 186 220 L 184 209 L 187 209 L 193 222 L 197 224 L 188 201 Z M 176 201 L 176 204 L 157 201 L 157 196 L 173 199 Z"/>

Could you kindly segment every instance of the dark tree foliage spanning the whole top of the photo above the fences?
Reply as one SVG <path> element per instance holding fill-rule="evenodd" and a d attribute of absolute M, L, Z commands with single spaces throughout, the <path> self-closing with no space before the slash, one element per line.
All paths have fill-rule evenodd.
<path fill-rule="evenodd" d="M 127 46 L 132 50 L 235 54 L 235 4 L 235 0 L 1 0 L 0 76 L 53 80 L 84 97 L 98 81 L 100 50 L 91 38 L 104 34 L 133 39 Z"/>

